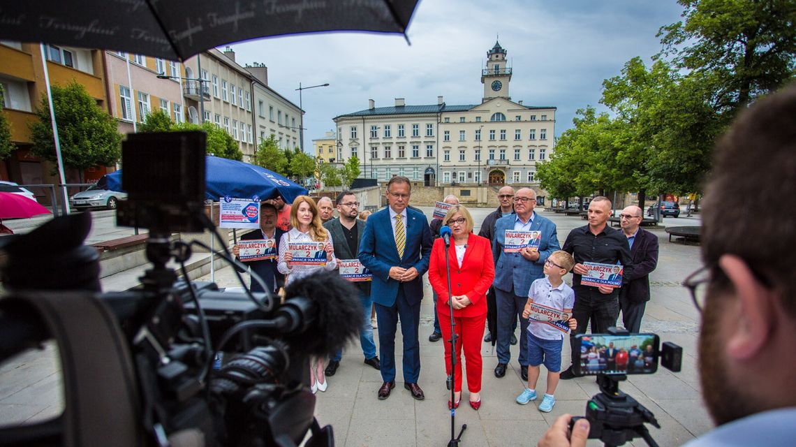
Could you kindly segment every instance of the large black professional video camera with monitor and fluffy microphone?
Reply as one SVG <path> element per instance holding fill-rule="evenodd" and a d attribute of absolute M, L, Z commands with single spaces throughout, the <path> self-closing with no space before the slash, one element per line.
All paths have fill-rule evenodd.
<path fill-rule="evenodd" d="M 0 362 L 54 339 L 65 407 L 48 422 L 0 428 L 0 445 L 287 447 L 307 433 L 308 446 L 334 445 L 332 427 L 314 419 L 308 364 L 356 335 L 357 291 L 334 273 L 292 282 L 283 302 L 249 292 L 237 271 L 245 293 L 190 281 L 191 245 L 171 233 L 216 233 L 205 214 L 204 147 L 203 132 L 123 143 L 129 200 L 117 223 L 150 229 L 152 268 L 137 288 L 100 293 L 99 255 L 83 245 L 88 213 L 3 238 Z M 218 238 L 220 256 L 236 262 Z"/>

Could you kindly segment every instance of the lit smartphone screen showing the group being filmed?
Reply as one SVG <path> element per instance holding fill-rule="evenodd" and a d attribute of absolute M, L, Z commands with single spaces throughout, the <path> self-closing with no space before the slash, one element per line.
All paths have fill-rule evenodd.
<path fill-rule="evenodd" d="M 579 334 L 575 374 L 652 374 L 660 341 L 655 334 Z"/>

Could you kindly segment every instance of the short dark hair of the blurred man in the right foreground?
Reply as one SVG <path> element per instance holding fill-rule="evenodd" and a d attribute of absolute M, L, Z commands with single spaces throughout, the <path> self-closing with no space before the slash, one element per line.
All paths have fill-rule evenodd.
<path fill-rule="evenodd" d="M 794 210 L 796 84 L 790 84 L 744 110 L 716 143 L 701 250 L 708 266 L 724 254 L 742 258 L 780 292 L 783 306 L 796 317 Z"/>

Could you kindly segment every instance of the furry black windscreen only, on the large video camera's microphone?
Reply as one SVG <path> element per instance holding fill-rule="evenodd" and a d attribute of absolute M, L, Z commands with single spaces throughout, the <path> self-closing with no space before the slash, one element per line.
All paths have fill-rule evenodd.
<path fill-rule="evenodd" d="M 359 335 L 365 321 L 359 290 L 335 272 L 319 272 L 300 280 L 290 281 L 285 299 L 304 296 L 317 308 L 315 321 L 299 334 L 285 340 L 291 351 L 310 355 L 332 355 L 342 349 L 349 339 Z"/>

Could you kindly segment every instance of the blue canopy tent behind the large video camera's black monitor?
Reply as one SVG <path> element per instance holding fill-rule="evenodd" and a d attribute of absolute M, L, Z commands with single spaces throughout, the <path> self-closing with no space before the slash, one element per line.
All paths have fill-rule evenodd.
<path fill-rule="evenodd" d="M 221 159 L 213 155 L 205 157 L 205 198 L 217 201 L 224 196 L 234 198 L 253 198 L 261 200 L 282 196 L 285 203 L 302 194 L 306 188 L 282 175 L 269 171 L 264 167 Z M 109 190 L 123 191 L 122 171 L 115 171 L 100 179 L 100 185 Z"/>

